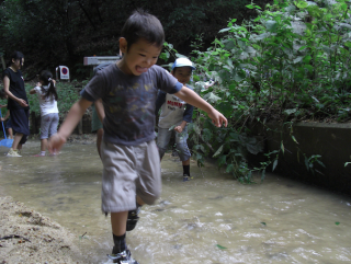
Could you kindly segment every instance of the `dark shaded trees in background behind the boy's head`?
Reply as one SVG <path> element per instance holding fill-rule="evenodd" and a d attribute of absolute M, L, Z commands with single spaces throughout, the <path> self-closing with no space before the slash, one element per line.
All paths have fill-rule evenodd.
<path fill-rule="evenodd" d="M 205 33 L 210 44 L 228 18 L 241 21 L 252 15 L 253 11 L 245 8 L 249 3 L 250 0 L 3 0 L 0 53 L 9 59 L 14 49 L 21 50 L 27 78 L 43 69 L 54 71 L 58 65 L 68 66 L 75 78 L 83 78 L 84 69 L 77 64 L 84 56 L 116 55 L 121 28 L 137 8 L 159 18 L 167 41 L 189 54 L 189 44 L 196 35 Z"/>

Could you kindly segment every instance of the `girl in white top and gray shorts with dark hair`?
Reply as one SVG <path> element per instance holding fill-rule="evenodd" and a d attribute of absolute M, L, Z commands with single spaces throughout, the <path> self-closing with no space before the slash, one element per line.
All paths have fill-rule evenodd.
<path fill-rule="evenodd" d="M 39 82 L 30 91 L 30 94 L 37 94 L 41 105 L 41 152 L 35 157 L 46 154 L 47 139 L 57 133 L 58 126 L 58 95 L 53 80 L 53 74 L 48 70 L 42 71 Z"/>

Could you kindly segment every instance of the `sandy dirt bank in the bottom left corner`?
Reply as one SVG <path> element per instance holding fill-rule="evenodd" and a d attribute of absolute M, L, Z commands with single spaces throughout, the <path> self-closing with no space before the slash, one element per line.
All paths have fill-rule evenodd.
<path fill-rule="evenodd" d="M 0 196 L 0 263 L 87 263 L 78 237 L 12 197 Z"/>

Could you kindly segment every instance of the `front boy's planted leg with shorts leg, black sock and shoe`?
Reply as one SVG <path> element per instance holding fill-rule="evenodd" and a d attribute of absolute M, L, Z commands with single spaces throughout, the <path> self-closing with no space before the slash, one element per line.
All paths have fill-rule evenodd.
<path fill-rule="evenodd" d="M 137 179 L 135 148 L 101 142 L 102 211 L 111 213 L 114 246 L 112 255 L 115 263 L 137 264 L 127 250 L 125 233 L 128 210 L 135 208 L 135 180 Z"/>

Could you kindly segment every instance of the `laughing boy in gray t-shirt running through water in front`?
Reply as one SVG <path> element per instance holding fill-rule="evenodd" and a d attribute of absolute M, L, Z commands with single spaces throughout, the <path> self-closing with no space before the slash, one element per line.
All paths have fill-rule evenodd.
<path fill-rule="evenodd" d="M 137 264 L 126 245 L 126 231 L 134 229 L 137 213 L 151 205 L 161 192 L 160 158 L 155 142 L 155 105 L 158 89 L 205 111 L 220 127 L 227 119 L 155 65 L 165 33 L 160 21 L 144 11 L 134 12 L 120 38 L 123 58 L 100 70 L 70 108 L 58 133 L 50 138 L 50 151 L 58 151 L 92 102 L 102 99 L 105 118 L 101 144 L 102 211 L 111 213 L 115 263 Z"/>

